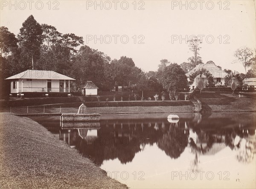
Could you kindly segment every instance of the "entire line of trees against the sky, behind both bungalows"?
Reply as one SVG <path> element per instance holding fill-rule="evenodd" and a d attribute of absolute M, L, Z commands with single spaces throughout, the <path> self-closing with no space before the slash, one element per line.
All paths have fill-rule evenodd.
<path fill-rule="evenodd" d="M 163 59 L 156 72 L 145 73 L 135 66 L 132 58 L 122 56 L 119 60 L 111 60 L 103 52 L 84 45 L 83 37 L 73 33 L 62 34 L 54 26 L 39 24 L 30 15 L 23 22 L 17 37 L 5 26 L 0 27 L 1 98 L 10 93 L 9 81 L 4 80 L 6 77 L 35 69 L 51 70 L 75 78 L 76 81 L 71 83 L 73 92 L 79 92 L 86 81 L 91 80 L 102 91 L 123 86 L 127 91 L 168 92 L 172 99 L 177 92 L 188 89 L 185 74 L 203 63 L 199 45 L 197 38 L 189 41 L 193 56 L 188 58 L 188 62 L 178 65 Z M 256 77 L 256 58 L 250 49 L 238 49 L 234 56 L 246 71 L 252 67 L 243 78 Z"/>

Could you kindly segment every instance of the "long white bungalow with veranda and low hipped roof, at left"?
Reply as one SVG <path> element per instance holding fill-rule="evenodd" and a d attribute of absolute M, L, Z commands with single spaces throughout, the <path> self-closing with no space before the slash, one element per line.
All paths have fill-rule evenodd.
<path fill-rule="evenodd" d="M 11 80 L 11 94 L 69 93 L 71 77 L 54 71 L 26 70 L 6 78 Z"/>

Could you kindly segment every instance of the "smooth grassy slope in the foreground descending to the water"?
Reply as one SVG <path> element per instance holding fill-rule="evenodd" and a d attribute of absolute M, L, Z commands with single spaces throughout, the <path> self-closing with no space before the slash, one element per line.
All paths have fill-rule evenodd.
<path fill-rule="evenodd" d="M 0 118 L 0 188 L 127 188 L 37 122 Z"/>

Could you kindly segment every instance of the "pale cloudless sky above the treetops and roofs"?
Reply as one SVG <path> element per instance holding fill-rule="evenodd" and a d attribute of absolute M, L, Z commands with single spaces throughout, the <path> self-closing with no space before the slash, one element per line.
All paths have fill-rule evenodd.
<path fill-rule="evenodd" d="M 234 63 L 236 49 L 256 48 L 256 9 L 253 0 L 202 1 L 0 1 L 0 26 L 17 35 L 33 15 L 38 23 L 62 34 L 84 38 L 84 45 L 111 59 L 131 57 L 145 72 L 156 71 L 160 60 L 187 62 L 193 56 L 187 40 L 201 38 L 199 56 L 222 69 L 244 73 Z"/>

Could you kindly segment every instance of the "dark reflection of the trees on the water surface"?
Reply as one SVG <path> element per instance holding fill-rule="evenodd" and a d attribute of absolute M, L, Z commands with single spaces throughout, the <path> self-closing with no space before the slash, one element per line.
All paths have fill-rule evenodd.
<path fill-rule="evenodd" d="M 131 119 L 129 116 L 129 119 L 101 120 L 100 128 L 91 130 L 63 129 L 59 137 L 98 165 L 116 158 L 122 164 L 131 162 L 136 153 L 153 144 L 171 159 L 179 158 L 190 148 L 195 155 L 191 169 L 195 171 L 200 156 L 215 154 L 227 146 L 238 153 L 239 162 L 252 161 L 256 155 L 255 119 L 251 119 L 251 115 L 214 116 L 194 114 L 180 117 L 177 123 L 169 123 L 167 117 Z M 54 133 L 59 126 L 59 123 L 44 124 L 42 120 L 40 123 Z M 96 135 L 89 135 L 92 130 Z"/>

